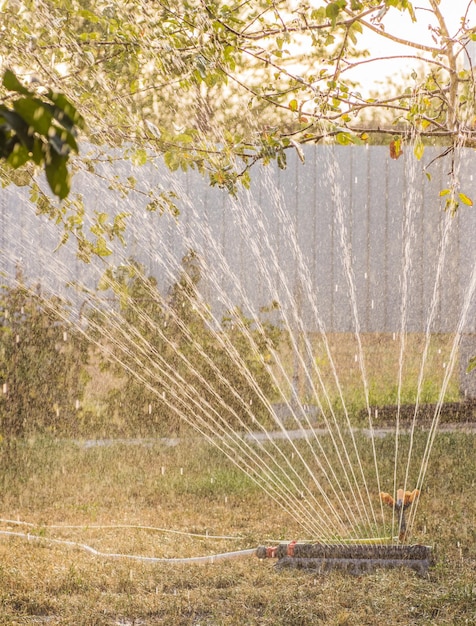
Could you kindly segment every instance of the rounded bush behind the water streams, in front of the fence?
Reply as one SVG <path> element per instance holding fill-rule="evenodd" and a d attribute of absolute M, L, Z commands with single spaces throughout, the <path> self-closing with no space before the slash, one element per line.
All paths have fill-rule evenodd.
<path fill-rule="evenodd" d="M 106 412 L 128 432 L 176 432 L 192 410 L 197 424 L 218 419 L 240 429 L 267 421 L 266 401 L 275 395 L 267 365 L 280 332 L 271 324 L 258 331 L 239 309 L 214 331 L 197 292 L 200 277 L 190 252 L 166 298 L 133 260 L 108 269 L 101 281 L 100 288 L 115 294 L 118 311 L 96 311 L 90 324 L 106 337 L 103 367 L 117 363 L 120 385 L 109 393 Z"/>

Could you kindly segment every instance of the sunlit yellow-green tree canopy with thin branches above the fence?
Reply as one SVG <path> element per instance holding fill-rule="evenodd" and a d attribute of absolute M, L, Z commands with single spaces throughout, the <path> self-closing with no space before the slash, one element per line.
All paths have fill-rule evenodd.
<path fill-rule="evenodd" d="M 292 9 L 285 0 L 7 1 L 0 45 L 10 67 L 61 87 L 98 146 L 127 144 L 138 164 L 160 153 L 170 169 L 195 168 L 236 193 L 256 161 L 285 167 L 286 151 L 306 142 L 383 137 L 401 149 L 411 145 L 417 158 L 427 142 L 474 145 L 474 77 L 463 64 L 476 38 L 469 8 L 452 32 L 450 15 L 432 0 L 421 11 L 408 0 L 323 0 Z M 409 24 L 428 24 L 429 43 L 395 31 L 397 12 Z M 366 50 L 370 32 L 400 45 L 397 56 L 417 68 L 372 93 L 353 75 L 364 63 L 382 75 L 381 53 Z M 30 101 L 17 109 L 34 113 Z"/>

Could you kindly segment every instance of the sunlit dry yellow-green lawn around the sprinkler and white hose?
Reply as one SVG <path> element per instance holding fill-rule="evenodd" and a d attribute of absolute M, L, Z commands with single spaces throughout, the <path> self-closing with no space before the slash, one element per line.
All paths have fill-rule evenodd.
<path fill-rule="evenodd" d="M 377 445 L 391 448 L 385 440 Z M 277 571 L 272 560 L 255 556 L 177 565 L 52 543 L 182 557 L 312 538 L 204 443 L 19 443 L 3 449 L 0 527 L 43 539 L 0 535 L 0 624 L 474 625 L 475 459 L 474 434 L 437 436 L 413 538 L 435 547 L 428 578 L 410 570 L 353 578 Z"/>

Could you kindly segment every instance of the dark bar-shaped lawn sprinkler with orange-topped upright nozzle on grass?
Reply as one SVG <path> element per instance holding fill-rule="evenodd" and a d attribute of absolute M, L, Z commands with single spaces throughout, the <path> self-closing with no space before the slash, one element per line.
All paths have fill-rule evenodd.
<path fill-rule="evenodd" d="M 381 493 L 380 499 L 388 504 L 399 516 L 400 542 L 407 538 L 405 509 L 418 498 L 418 489 L 413 491 L 397 491 L 395 500 L 388 493 Z M 382 541 L 382 542 L 381 542 Z M 332 570 L 339 570 L 348 574 L 361 575 L 374 572 L 377 568 L 392 569 L 406 567 L 417 574 L 425 576 L 429 567 L 434 564 L 430 546 L 385 544 L 382 540 L 372 540 L 371 543 L 357 544 L 327 544 L 327 543 L 281 543 L 277 546 L 260 546 L 256 550 L 260 559 L 276 558 L 278 568 L 305 569 L 319 574 Z"/>

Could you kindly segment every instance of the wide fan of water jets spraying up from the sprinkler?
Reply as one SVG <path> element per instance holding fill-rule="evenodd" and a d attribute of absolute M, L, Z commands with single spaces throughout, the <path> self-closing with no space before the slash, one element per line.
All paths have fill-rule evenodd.
<path fill-rule="evenodd" d="M 263 172 L 263 180 L 236 199 L 209 190 L 200 199 L 190 176 L 177 222 L 166 214 L 144 217 L 138 201 L 133 240 L 128 249 L 114 250 L 106 273 L 104 262 L 92 260 L 87 272 L 78 268 L 75 274 L 71 250 L 51 255 L 46 233 L 37 246 L 32 207 L 25 233 L 18 234 L 13 211 L 2 219 L 5 275 L 14 283 L 13 261 L 22 256 L 35 260 L 25 273 L 38 276 L 47 292 L 83 286 L 75 301 L 81 329 L 121 369 L 123 387 L 138 386 L 142 421 L 154 426 L 167 414 L 171 424 L 191 426 L 289 515 L 296 523 L 292 536 L 316 542 L 295 544 L 292 555 L 286 547 L 279 558 L 276 550 L 279 567 L 360 573 L 408 566 L 424 573 L 431 564 L 427 547 L 418 552 L 399 543 L 408 539 L 418 499 L 415 492 L 399 495 L 397 486 L 422 488 L 460 339 L 473 328 L 474 215 L 453 218 L 433 207 L 424 214 L 411 160 L 408 171 L 398 166 L 409 193 L 402 197 L 400 186 L 393 189 L 385 211 L 381 180 L 378 189 L 373 178 L 365 189 L 352 185 L 346 196 L 347 173 L 364 159 L 370 171 L 381 156 L 379 149 L 309 150 L 312 184 L 293 187 L 284 173 Z M 289 176 L 291 167 L 287 171 Z M 149 173 L 150 180 L 163 178 Z M 393 178 L 387 178 L 390 185 Z M 176 186 L 181 189 L 182 181 Z M 97 202 L 102 210 L 107 201 L 112 214 L 120 209 L 99 184 L 88 191 L 91 208 Z M 425 193 L 430 198 L 430 190 Z M 36 259 L 26 254 L 31 248 L 38 249 Z M 134 265 L 129 255 L 139 252 Z M 461 267 L 453 267 L 455 259 Z M 104 289 L 93 293 L 96 282 Z M 80 303 L 86 293 L 94 313 L 89 318 Z M 125 313 L 119 314 L 122 304 Z M 276 344 L 267 332 L 271 323 L 279 331 Z M 443 335 L 448 340 L 441 354 Z M 391 448 L 379 438 L 384 415 L 372 408 L 381 404 L 373 393 L 381 379 L 385 404 L 396 406 Z M 1 382 L 9 389 L 8 380 Z M 420 452 L 418 409 L 428 402 L 427 388 L 435 391 Z M 73 407 L 74 415 L 83 410 L 81 403 Z M 378 501 L 374 494 L 384 489 L 396 498 L 387 494 Z M 398 537 L 395 549 L 377 545 L 382 542 L 361 547 L 365 538 L 387 534 Z M 352 543 L 341 548 L 340 537 Z"/>

